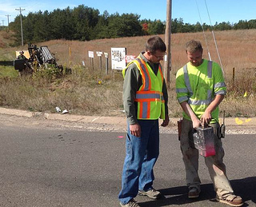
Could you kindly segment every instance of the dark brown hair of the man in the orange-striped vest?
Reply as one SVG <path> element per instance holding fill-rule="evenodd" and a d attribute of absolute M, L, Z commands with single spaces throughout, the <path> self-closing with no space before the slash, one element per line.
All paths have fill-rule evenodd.
<path fill-rule="evenodd" d="M 147 40 L 145 49 L 146 51 L 150 51 L 151 54 L 155 54 L 157 50 L 160 50 L 161 52 L 166 52 L 166 44 L 162 41 L 162 38 L 154 36 Z"/>

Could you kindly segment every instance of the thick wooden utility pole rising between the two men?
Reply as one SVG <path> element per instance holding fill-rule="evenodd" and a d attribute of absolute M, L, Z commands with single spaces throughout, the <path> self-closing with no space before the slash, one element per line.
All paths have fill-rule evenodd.
<path fill-rule="evenodd" d="M 166 6 L 166 58 L 164 64 L 164 76 L 166 79 L 166 86 L 170 88 L 170 70 L 171 70 L 171 53 L 170 53 L 170 35 L 171 35 L 171 0 L 167 0 Z"/>

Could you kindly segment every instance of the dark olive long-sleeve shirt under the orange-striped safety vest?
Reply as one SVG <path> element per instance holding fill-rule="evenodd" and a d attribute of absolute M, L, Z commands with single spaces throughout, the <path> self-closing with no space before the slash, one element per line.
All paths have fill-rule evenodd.
<path fill-rule="evenodd" d="M 149 63 L 151 69 L 154 71 L 154 74 L 158 74 L 158 66 L 160 63 L 149 62 L 144 57 L 143 53 L 140 54 L 140 57 L 145 62 Z M 138 67 L 134 63 L 132 63 L 130 66 L 128 66 L 126 70 L 122 94 L 122 102 L 124 105 L 127 120 L 129 121 L 130 125 L 138 123 L 137 102 L 134 102 L 134 99 L 136 97 L 136 92 L 139 90 L 140 86 L 142 86 L 142 75 L 140 74 Z M 162 94 L 165 99 L 166 114 L 168 114 L 168 94 L 165 80 L 163 81 L 162 85 Z"/>

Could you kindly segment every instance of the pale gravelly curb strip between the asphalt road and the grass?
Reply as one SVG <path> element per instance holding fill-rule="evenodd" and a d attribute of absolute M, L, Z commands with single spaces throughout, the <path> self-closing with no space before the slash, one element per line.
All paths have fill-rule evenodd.
<path fill-rule="evenodd" d="M 51 129 L 74 129 L 87 131 L 108 131 L 108 132 L 126 132 L 126 125 L 114 125 L 108 123 L 84 122 L 84 121 L 66 121 L 66 120 L 50 120 L 43 116 L 22 117 L 15 115 L 0 114 L 0 124 L 9 126 L 23 126 L 35 129 L 51 128 Z M 175 120 L 170 120 L 170 125 L 160 127 L 160 133 L 178 133 Z M 226 134 L 255 134 L 254 125 L 226 125 Z"/>

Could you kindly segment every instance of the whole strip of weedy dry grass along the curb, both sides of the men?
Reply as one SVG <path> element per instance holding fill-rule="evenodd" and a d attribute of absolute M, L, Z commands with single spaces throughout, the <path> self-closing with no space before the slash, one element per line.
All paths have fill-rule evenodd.
<path fill-rule="evenodd" d="M 73 114 L 123 116 L 121 73 L 105 75 L 99 70 L 92 71 L 80 66 L 74 67 L 72 71 L 72 74 L 63 74 L 62 77 L 44 70 L 26 77 L 17 77 L 17 74 L 2 77 L 0 105 L 51 113 L 56 113 L 55 107 L 58 106 Z M 168 94 L 170 117 L 181 117 L 182 109 L 176 100 L 174 82 Z M 220 105 L 221 112 L 225 110 L 229 117 L 256 116 L 254 94 L 254 91 L 248 91 L 244 97 L 244 93 L 234 93 L 234 87 L 228 85 L 228 93 Z"/>

